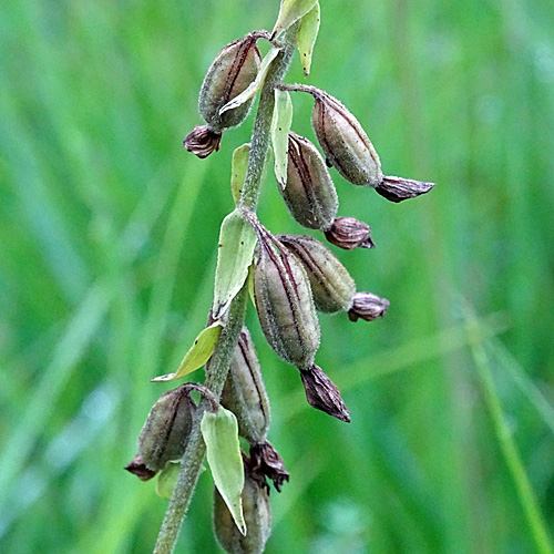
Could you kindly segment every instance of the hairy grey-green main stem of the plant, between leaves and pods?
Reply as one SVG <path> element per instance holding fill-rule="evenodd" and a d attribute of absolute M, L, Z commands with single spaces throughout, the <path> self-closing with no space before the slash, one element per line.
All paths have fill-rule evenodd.
<path fill-rule="evenodd" d="M 290 65 L 290 60 L 295 51 L 297 29 L 298 24 L 295 24 L 287 31 L 284 48 L 273 62 L 261 89 L 258 112 L 252 135 L 248 167 L 240 196 L 239 205 L 243 209 L 254 212 L 258 203 L 261 174 L 269 151 L 269 133 L 275 104 L 274 90 L 283 81 Z M 244 325 L 247 296 L 247 287 L 245 285 L 229 306 L 227 322 L 219 335 L 214 353 L 206 365 L 204 386 L 217 399 L 222 394 L 233 351 L 238 342 L 240 329 Z M 154 554 L 171 554 L 175 547 L 182 522 L 198 481 L 202 461 L 206 451 L 201 432 L 201 421 L 206 409 L 209 409 L 209 402 L 203 399 L 196 410 L 188 443 L 181 460 L 177 482 L 157 536 Z"/>

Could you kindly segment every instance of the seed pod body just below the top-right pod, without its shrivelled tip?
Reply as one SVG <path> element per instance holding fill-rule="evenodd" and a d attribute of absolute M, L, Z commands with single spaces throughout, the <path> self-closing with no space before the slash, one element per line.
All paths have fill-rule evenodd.
<path fill-rule="evenodd" d="M 293 217 L 309 229 L 327 229 L 335 219 L 338 197 L 317 148 L 304 136 L 288 135 L 286 187 L 278 187 Z"/>

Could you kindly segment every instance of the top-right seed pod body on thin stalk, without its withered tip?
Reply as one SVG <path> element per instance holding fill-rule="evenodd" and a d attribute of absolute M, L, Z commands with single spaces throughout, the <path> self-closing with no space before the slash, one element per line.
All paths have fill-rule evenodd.
<path fill-rule="evenodd" d="M 328 165 L 355 185 L 378 186 L 382 181 L 381 163 L 358 120 L 330 94 L 306 89 L 316 101 L 311 123 Z"/>

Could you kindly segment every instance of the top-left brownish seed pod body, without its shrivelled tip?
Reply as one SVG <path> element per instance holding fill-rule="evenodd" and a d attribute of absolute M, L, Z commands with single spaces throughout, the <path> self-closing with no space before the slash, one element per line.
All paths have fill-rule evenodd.
<path fill-rule="evenodd" d="M 198 99 L 198 110 L 208 129 L 222 132 L 239 125 L 248 115 L 250 100 L 219 115 L 219 110 L 256 79 L 260 62 L 256 38 L 247 34 L 227 44 L 209 66 Z"/>

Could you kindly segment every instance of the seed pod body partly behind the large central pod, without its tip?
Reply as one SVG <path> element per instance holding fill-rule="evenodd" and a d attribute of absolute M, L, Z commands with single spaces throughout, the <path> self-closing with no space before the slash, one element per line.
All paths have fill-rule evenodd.
<path fill-rule="evenodd" d="M 276 238 L 301 261 L 318 310 L 335 312 L 350 309 L 356 283 L 327 246 L 306 235 L 277 235 Z"/>

